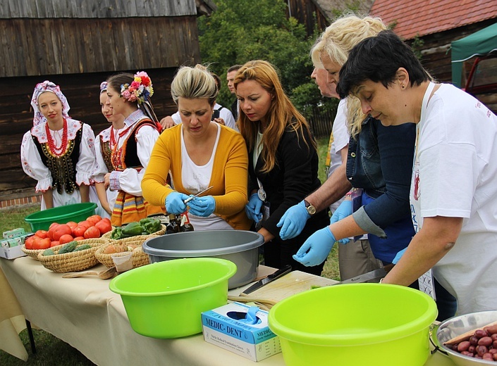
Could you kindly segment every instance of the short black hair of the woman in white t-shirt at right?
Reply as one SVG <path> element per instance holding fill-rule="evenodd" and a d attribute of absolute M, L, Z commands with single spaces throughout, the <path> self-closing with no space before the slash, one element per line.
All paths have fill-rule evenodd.
<path fill-rule="evenodd" d="M 375 37 L 362 40 L 350 51 L 340 69 L 336 91 L 343 99 L 366 80 L 381 82 L 388 88 L 399 68 L 407 70 L 411 84 L 431 80 L 410 46 L 393 31 L 383 30 Z"/>

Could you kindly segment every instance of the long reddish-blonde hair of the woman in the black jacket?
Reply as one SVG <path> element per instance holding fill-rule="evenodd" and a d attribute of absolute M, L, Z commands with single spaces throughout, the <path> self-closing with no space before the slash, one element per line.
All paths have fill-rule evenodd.
<path fill-rule="evenodd" d="M 245 63 L 245 65 L 238 70 L 235 80 L 233 81 L 235 89 L 237 89 L 240 82 L 244 82 L 245 80 L 254 80 L 258 82 L 266 92 L 273 96 L 267 115 L 267 120 L 269 122 L 262 137 L 261 156 L 264 161 L 262 172 L 269 172 L 274 168 L 278 144 L 283 132 L 288 127 L 297 132 L 297 136 L 300 135 L 305 144 L 309 146 L 308 141 L 306 141 L 302 132 L 304 129 L 307 130 L 307 134 L 311 140 L 309 142 L 314 146 L 314 149 L 317 149 L 316 141 L 312 139 L 312 134 L 307 121 L 304 116 L 297 111 L 295 106 L 293 106 L 285 92 L 283 92 L 283 87 L 278 78 L 278 72 L 276 72 L 276 69 L 271 63 L 262 60 L 254 60 Z M 257 139 L 257 133 L 259 132 L 259 124 L 250 121 L 245 113 L 240 113 L 238 116 L 238 128 L 245 141 L 247 141 L 249 151 L 252 151 Z"/>

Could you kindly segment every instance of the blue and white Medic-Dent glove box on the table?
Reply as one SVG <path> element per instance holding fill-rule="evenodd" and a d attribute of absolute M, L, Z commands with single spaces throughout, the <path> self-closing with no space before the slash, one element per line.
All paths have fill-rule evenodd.
<path fill-rule="evenodd" d="M 238 320 L 245 317 L 248 308 L 250 306 L 243 303 L 229 303 L 202 313 L 205 341 L 255 362 L 280 353 L 280 340 L 269 329 L 266 311 L 257 311 L 259 324 Z"/>

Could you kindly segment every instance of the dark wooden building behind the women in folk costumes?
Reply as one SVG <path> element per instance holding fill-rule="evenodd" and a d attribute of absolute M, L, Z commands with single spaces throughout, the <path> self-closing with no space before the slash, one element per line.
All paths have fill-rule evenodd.
<path fill-rule="evenodd" d="M 211 0 L 0 0 L 0 207 L 38 199 L 20 165 L 38 82 L 59 84 L 71 118 L 95 134 L 108 123 L 99 84 L 116 72 L 147 71 L 157 116 L 173 113 L 173 75 L 200 61 L 197 16 L 215 8 Z"/>

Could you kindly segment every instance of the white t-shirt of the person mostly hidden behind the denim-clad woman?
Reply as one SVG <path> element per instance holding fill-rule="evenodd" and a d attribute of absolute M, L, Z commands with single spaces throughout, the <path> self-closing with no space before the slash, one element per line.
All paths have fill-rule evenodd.
<path fill-rule="evenodd" d="M 347 99 L 342 99 L 338 103 L 331 133 L 333 134 L 333 142 L 331 143 L 330 148 L 331 162 L 328 169 L 328 177 L 330 177 L 331 173 L 333 173 L 336 168 L 342 165 L 342 154 L 340 153 L 340 150 L 348 145 L 350 137 L 347 128 Z M 332 213 L 335 212 L 342 201 L 343 198 L 340 198 L 340 200 L 335 203 L 331 203 L 330 210 Z"/>

